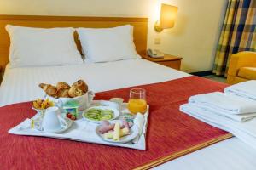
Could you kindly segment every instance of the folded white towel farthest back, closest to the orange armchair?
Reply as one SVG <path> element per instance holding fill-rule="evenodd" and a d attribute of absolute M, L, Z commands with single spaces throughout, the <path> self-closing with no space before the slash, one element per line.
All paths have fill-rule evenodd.
<path fill-rule="evenodd" d="M 236 94 L 238 96 L 256 100 L 256 80 L 241 82 L 224 89 L 226 94 Z"/>

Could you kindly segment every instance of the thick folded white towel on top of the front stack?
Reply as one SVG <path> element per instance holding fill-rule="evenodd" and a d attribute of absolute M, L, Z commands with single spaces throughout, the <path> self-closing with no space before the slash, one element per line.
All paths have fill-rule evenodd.
<path fill-rule="evenodd" d="M 256 101 L 221 92 L 191 96 L 189 98 L 189 103 L 203 105 L 211 110 L 220 111 L 226 114 L 236 115 L 256 112 Z"/>

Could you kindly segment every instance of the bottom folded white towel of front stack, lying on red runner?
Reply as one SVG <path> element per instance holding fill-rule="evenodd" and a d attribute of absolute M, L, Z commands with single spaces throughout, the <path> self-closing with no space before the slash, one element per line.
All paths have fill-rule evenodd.
<path fill-rule="evenodd" d="M 185 104 L 180 106 L 180 111 L 199 119 L 202 122 L 218 127 L 235 135 L 241 141 L 256 149 L 256 119 L 247 122 L 235 122 L 230 118 L 206 111 L 195 105 Z"/>

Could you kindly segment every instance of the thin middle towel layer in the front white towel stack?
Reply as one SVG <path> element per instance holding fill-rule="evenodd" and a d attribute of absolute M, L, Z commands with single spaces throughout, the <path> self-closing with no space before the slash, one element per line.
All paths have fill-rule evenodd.
<path fill-rule="evenodd" d="M 225 111 L 215 110 L 215 109 L 212 109 L 211 107 L 207 107 L 205 105 L 199 105 L 199 104 L 195 104 L 195 103 L 189 103 L 189 105 L 195 105 L 196 107 L 200 107 L 202 110 L 211 111 L 214 114 L 218 114 L 220 116 L 228 117 L 228 118 L 230 118 L 234 121 L 237 121 L 237 122 L 247 122 L 248 120 L 251 120 L 253 117 L 256 116 L 256 112 L 255 113 L 245 113 L 245 114 L 241 114 L 241 115 L 235 115 L 235 114 L 227 113 Z"/>

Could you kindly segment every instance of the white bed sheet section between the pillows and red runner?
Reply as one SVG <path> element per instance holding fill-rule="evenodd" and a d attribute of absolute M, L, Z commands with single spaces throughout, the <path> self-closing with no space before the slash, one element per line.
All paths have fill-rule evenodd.
<path fill-rule="evenodd" d="M 38 88 L 41 82 L 55 84 L 63 81 L 72 84 L 83 79 L 92 91 L 102 92 L 188 76 L 182 71 L 145 59 L 13 69 L 8 65 L 0 87 L 0 106 L 43 98 L 43 91 Z"/>

